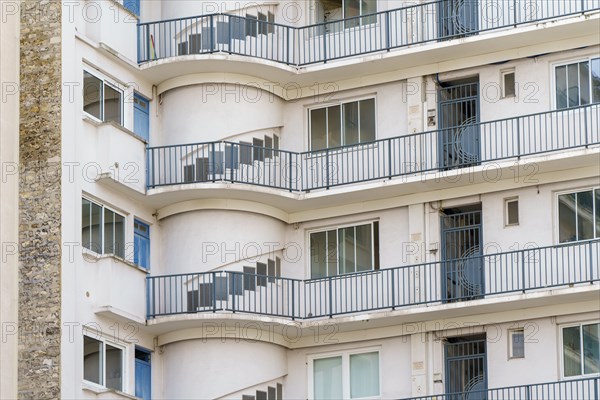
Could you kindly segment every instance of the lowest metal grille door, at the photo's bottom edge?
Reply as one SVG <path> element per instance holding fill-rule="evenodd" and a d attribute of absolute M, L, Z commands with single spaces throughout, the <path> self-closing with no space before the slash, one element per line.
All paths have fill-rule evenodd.
<path fill-rule="evenodd" d="M 449 338 L 445 345 L 447 400 L 484 400 L 487 391 L 485 335 Z"/>

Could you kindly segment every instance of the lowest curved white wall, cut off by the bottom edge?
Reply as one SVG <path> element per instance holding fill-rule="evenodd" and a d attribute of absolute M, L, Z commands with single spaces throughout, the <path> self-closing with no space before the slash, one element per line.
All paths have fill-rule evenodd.
<path fill-rule="evenodd" d="M 197 339 L 164 346 L 164 398 L 215 399 L 287 374 L 278 345 L 236 338 Z"/>

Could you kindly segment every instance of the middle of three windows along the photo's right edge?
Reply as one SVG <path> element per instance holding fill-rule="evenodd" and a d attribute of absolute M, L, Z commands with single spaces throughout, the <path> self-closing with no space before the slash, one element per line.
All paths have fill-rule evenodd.
<path fill-rule="evenodd" d="M 558 195 L 560 243 L 600 237 L 600 189 Z"/>

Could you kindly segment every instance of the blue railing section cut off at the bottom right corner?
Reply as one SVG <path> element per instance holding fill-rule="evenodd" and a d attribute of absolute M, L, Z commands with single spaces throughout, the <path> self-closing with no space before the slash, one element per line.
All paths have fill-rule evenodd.
<path fill-rule="evenodd" d="M 600 378 L 591 377 L 556 382 L 532 383 L 461 393 L 409 397 L 402 400 L 592 400 L 600 398 Z"/>

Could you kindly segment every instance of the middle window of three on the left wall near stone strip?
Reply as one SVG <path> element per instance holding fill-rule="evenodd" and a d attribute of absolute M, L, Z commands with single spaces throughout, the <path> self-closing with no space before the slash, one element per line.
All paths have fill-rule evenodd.
<path fill-rule="evenodd" d="M 125 257 L 125 217 L 86 198 L 81 199 L 81 244 L 98 254 Z"/>

